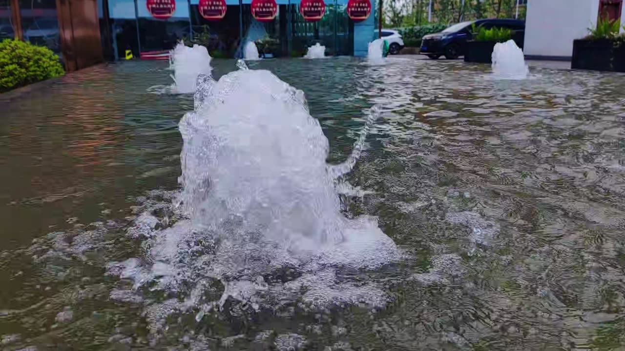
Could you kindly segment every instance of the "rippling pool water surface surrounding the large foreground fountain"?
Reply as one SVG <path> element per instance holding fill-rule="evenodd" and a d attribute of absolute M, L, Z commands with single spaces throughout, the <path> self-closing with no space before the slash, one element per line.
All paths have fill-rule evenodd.
<path fill-rule="evenodd" d="M 236 69 L 212 63 L 217 77 Z M 0 96 L 2 347 L 623 347 L 623 76 L 534 68 L 531 79 L 496 81 L 463 62 L 359 63 L 251 69 L 304 91 L 330 163 L 349 155 L 364 112 L 383 107 L 347 177 L 358 195 L 341 200 L 350 217 L 378 216 L 404 257 L 336 277 L 376 281 L 383 308 L 276 302 L 254 312 L 229 300 L 200 322 L 162 320 L 175 296 L 133 294 L 112 274 L 109 262 L 150 249 L 137 235 L 176 220 L 178 121 L 193 107 L 191 96 L 146 92 L 169 83 L 166 63 L 127 62 Z"/>

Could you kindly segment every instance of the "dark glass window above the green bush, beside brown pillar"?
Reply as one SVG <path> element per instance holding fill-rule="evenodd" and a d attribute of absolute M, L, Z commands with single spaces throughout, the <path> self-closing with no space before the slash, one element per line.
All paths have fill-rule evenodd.
<path fill-rule="evenodd" d="M 24 40 L 61 52 L 56 0 L 19 0 Z"/>

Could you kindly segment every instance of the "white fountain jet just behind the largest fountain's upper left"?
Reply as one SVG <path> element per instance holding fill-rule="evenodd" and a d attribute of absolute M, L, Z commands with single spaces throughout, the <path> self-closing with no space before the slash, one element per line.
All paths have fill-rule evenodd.
<path fill-rule="evenodd" d="M 180 94 L 194 92 L 197 76 L 211 74 L 212 70 L 211 56 L 206 47 L 200 45 L 188 47 L 183 42 L 179 42 L 171 51 L 169 66 L 174 71 L 174 75 L 171 76 L 174 79 L 172 91 Z"/>

